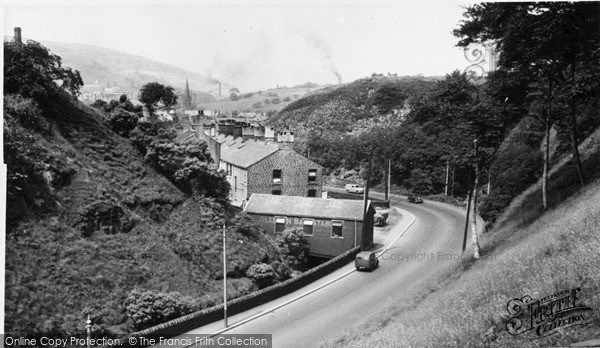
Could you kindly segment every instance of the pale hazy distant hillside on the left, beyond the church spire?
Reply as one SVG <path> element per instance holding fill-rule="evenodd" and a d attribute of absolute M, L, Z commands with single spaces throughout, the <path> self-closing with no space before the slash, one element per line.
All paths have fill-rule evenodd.
<path fill-rule="evenodd" d="M 64 65 L 79 70 L 84 84 L 88 86 L 118 87 L 120 92 L 137 97 L 140 88 L 153 81 L 173 86 L 183 92 L 185 80 L 188 78 L 190 90 L 197 93 L 197 98 L 193 101 L 205 100 L 202 97 L 206 96 L 202 96 L 201 92 L 218 96 L 219 85 L 216 80 L 174 65 L 93 45 L 50 41 L 44 41 L 42 44 L 60 56 Z M 229 84 L 222 82 L 223 90 L 229 88 Z"/>

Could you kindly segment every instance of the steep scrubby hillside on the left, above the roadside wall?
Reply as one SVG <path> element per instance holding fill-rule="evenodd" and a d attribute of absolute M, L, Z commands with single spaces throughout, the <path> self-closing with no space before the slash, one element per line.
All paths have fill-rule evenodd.
<path fill-rule="evenodd" d="M 226 219 L 229 296 L 254 288 L 244 271 L 276 255 L 272 240 L 214 200 L 184 195 L 104 114 L 65 93 L 49 103 L 41 117 L 5 96 L 6 332 L 81 333 L 85 313 L 96 333 L 128 332 L 134 288 L 180 292 L 195 309 L 221 301 Z"/>

